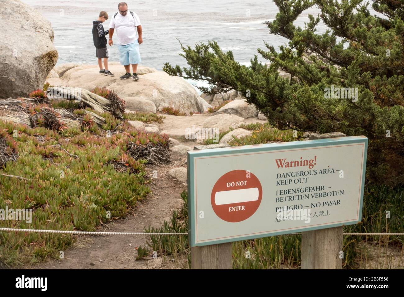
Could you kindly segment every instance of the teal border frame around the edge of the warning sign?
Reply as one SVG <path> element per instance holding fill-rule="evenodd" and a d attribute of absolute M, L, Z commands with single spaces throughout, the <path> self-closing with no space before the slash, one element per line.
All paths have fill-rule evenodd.
<path fill-rule="evenodd" d="M 209 242 L 200 242 L 200 243 L 195 242 L 196 230 L 195 230 L 194 218 L 197 214 L 194 211 L 194 209 L 195 209 L 194 158 L 206 157 L 206 156 L 242 154 L 242 153 L 250 153 L 250 152 L 269 152 L 269 151 L 285 150 L 285 149 L 321 147 L 321 146 L 342 145 L 342 144 L 352 144 L 352 143 L 364 143 L 365 144 L 365 149 L 364 149 L 364 154 L 363 154 L 364 160 L 363 160 L 362 187 L 361 187 L 361 196 L 360 196 L 359 221 L 350 221 L 350 222 L 345 222 L 345 223 L 322 225 L 322 226 L 315 226 L 315 227 L 310 227 L 310 228 L 288 230 L 288 231 L 268 233 L 268 234 L 240 236 L 238 238 L 227 238 L 227 239 L 214 240 L 214 241 L 209 241 Z M 343 225 L 353 225 L 353 224 L 359 223 L 362 218 L 362 206 L 363 206 L 363 193 L 364 193 L 365 175 L 366 175 L 367 152 L 368 152 L 368 138 L 365 136 L 335 137 L 335 138 L 307 140 L 307 141 L 290 141 L 290 142 L 283 142 L 283 143 L 267 143 L 267 144 L 259 144 L 259 145 L 244 145 L 244 146 L 223 147 L 223 148 L 207 149 L 207 150 L 188 151 L 188 154 L 187 154 L 187 167 L 188 167 L 188 170 L 187 170 L 187 174 L 188 174 L 187 202 L 188 202 L 188 226 L 189 226 L 188 241 L 189 241 L 189 245 L 190 246 L 204 246 L 204 245 L 253 239 L 253 238 L 290 234 L 290 233 L 294 233 L 294 232 L 339 227 L 339 226 L 343 226 Z"/>

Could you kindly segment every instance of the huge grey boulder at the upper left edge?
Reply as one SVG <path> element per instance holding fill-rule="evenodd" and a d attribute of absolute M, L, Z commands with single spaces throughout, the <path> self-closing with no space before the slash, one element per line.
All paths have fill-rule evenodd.
<path fill-rule="evenodd" d="M 50 22 L 19 0 L 1 0 L 0 19 L 0 98 L 42 89 L 58 58 Z"/>

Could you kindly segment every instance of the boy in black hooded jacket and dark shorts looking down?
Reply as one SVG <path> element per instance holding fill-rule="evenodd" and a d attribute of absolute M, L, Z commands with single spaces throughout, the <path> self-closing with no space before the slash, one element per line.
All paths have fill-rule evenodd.
<path fill-rule="evenodd" d="M 105 35 L 107 35 L 109 31 L 104 31 L 104 27 L 102 25 L 102 23 L 107 19 L 108 14 L 105 11 L 101 11 L 98 21 L 93 21 L 93 40 L 95 45 L 95 55 L 98 58 L 98 65 L 100 67 L 99 73 L 107 76 L 114 76 L 114 74 L 108 70 L 108 48 L 107 38 L 105 38 Z M 102 67 L 102 59 L 104 59 L 105 70 Z"/>

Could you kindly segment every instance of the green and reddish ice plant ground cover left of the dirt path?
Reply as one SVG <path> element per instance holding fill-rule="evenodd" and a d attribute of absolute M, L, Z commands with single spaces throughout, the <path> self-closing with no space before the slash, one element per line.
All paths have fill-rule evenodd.
<path fill-rule="evenodd" d="M 1 227 L 94 231 L 101 223 L 125 217 L 150 192 L 148 161 L 135 160 L 133 153 L 143 146 L 166 151 L 168 137 L 139 132 L 109 112 L 98 114 L 105 119 L 99 126 L 85 114 L 90 109 L 71 102 L 27 108 L 33 115 L 46 109 L 59 121 L 53 107 L 61 105 L 82 117 L 80 128 L 61 123 L 61 129 L 52 130 L 40 117 L 33 117 L 35 128 L 0 121 L 0 209 L 32 209 L 31 223 L 0 220 Z M 161 116 L 147 113 L 124 118 L 161 121 Z M 0 264 L 15 267 L 59 257 L 74 240 L 65 234 L 0 232 Z"/>

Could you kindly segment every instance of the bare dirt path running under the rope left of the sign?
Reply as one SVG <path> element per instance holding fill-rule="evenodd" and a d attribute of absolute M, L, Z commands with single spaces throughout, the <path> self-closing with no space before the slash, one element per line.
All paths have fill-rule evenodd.
<path fill-rule="evenodd" d="M 161 227 L 164 220 L 169 221 L 171 211 L 181 206 L 180 193 L 185 185 L 172 179 L 168 170 L 179 166 L 175 162 L 169 167 L 148 166 L 151 176 L 158 171 L 158 178 L 150 185 L 152 193 L 143 203 L 138 202 L 133 213 L 103 225 L 101 232 L 145 232 L 149 225 Z M 50 259 L 24 268 L 32 269 L 167 269 L 178 268 L 162 257 L 136 260 L 135 247 L 146 246 L 148 236 L 80 236 L 75 244 L 64 251 L 64 259 Z"/>

